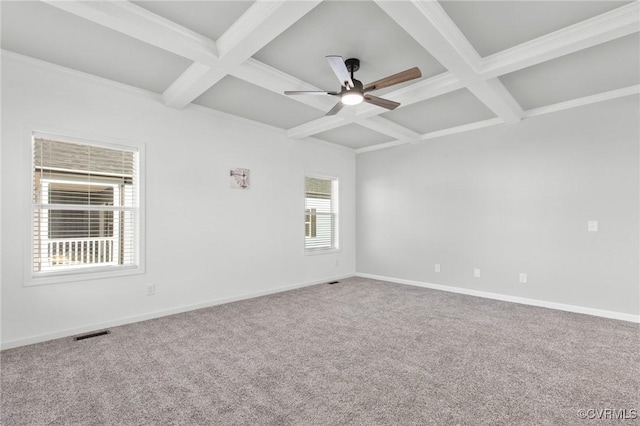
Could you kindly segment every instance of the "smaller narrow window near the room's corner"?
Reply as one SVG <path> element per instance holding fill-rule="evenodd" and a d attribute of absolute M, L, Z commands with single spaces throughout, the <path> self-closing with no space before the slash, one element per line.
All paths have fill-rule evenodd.
<path fill-rule="evenodd" d="M 307 253 L 338 248 L 338 180 L 305 177 L 304 247 Z"/>

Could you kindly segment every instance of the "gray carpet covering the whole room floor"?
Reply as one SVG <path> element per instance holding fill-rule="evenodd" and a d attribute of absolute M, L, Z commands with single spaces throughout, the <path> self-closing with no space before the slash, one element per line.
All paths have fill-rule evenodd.
<path fill-rule="evenodd" d="M 638 332 L 349 278 L 3 351 L 1 424 L 595 424 L 640 408 Z"/>

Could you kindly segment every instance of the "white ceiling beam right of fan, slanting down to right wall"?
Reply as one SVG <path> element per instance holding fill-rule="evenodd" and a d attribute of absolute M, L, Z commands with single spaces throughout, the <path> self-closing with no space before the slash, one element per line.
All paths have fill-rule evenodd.
<path fill-rule="evenodd" d="M 480 55 L 438 2 L 377 1 L 377 4 L 498 117 L 507 123 L 520 120 L 523 114 L 520 105 L 499 80 L 485 81 L 479 76 Z"/>

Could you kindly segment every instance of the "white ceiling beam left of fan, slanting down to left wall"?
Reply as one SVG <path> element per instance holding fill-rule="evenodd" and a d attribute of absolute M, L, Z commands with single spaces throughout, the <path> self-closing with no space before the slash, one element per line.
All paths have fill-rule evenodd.
<path fill-rule="evenodd" d="M 164 94 L 183 108 L 302 18 L 321 0 L 258 0 L 217 41 L 219 61 L 209 70 L 185 71 Z"/>

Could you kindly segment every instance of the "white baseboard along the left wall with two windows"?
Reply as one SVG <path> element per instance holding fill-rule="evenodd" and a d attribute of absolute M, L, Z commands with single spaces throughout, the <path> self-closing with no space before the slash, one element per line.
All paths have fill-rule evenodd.
<path fill-rule="evenodd" d="M 225 303 L 237 302 L 239 300 L 253 299 L 260 296 L 267 296 L 269 294 L 281 293 L 283 291 L 294 290 L 296 288 L 308 287 L 316 284 L 322 284 L 330 281 L 341 280 L 348 277 L 352 277 L 354 274 L 340 275 L 334 277 L 323 278 L 321 280 L 310 281 L 306 283 L 292 284 L 282 287 L 277 287 L 269 290 L 257 291 L 254 293 L 245 293 L 237 296 L 224 297 L 220 299 L 209 300 L 201 303 L 194 303 L 191 305 L 177 306 L 175 308 L 163 309 L 160 311 L 149 312 L 141 315 L 132 315 L 129 317 L 119 318 L 113 321 L 106 321 L 101 323 L 94 323 L 85 325 L 82 327 L 68 328 L 65 330 L 56 331 L 53 333 L 45 333 L 37 336 L 25 337 L 22 339 L 10 340 L 2 342 L 0 350 L 17 348 L 19 346 L 32 345 L 34 343 L 46 342 L 47 340 L 60 339 L 63 337 L 75 336 L 78 334 L 89 333 L 92 331 L 103 330 L 110 327 L 118 327 L 120 325 L 132 324 L 135 322 L 146 321 L 154 318 L 165 317 L 168 315 L 180 314 L 183 312 L 195 311 L 196 309 L 208 308 L 210 306 L 223 305 Z"/>

